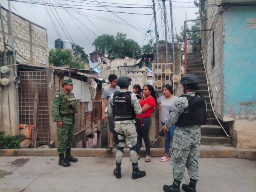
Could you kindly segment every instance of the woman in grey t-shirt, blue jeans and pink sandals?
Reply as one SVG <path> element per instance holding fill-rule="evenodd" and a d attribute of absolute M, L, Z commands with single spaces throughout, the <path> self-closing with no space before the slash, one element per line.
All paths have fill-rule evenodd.
<path fill-rule="evenodd" d="M 165 125 L 166 121 L 169 117 L 169 111 L 174 108 L 174 104 L 178 97 L 172 95 L 172 86 L 165 85 L 163 87 L 163 94 L 164 96 L 158 98 L 156 101 L 158 104 L 161 104 L 161 107 L 156 104 L 156 108 L 161 111 L 161 122 L 162 126 Z M 169 150 L 170 150 L 170 141 L 173 140 L 175 125 L 173 125 L 166 134 L 164 134 L 164 148 L 165 148 L 165 155 L 160 159 L 161 162 L 165 162 L 169 160 Z"/>

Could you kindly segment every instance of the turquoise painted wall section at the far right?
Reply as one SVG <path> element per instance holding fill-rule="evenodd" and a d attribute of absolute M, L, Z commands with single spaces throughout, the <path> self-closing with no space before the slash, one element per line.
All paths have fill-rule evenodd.
<path fill-rule="evenodd" d="M 232 6 L 223 13 L 224 115 L 256 118 L 256 7 Z"/>

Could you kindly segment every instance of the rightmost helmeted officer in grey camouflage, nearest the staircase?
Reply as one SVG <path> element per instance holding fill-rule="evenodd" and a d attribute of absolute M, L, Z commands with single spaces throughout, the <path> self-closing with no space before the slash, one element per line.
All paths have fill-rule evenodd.
<path fill-rule="evenodd" d="M 167 132 L 172 125 L 176 125 L 172 145 L 172 169 L 174 182 L 171 186 L 164 185 L 165 192 L 180 192 L 180 183 L 186 167 L 190 176 L 190 183 L 183 184 L 185 192 L 196 192 L 198 180 L 198 158 L 201 140 L 201 125 L 206 124 L 206 102 L 196 92 L 199 90 L 199 80 L 194 74 L 187 74 L 180 80 L 185 95 L 180 96 L 163 126 Z"/>

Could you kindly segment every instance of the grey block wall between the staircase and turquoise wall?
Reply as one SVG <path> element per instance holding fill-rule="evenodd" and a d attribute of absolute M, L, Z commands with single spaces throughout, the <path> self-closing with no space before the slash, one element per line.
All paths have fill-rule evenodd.
<path fill-rule="evenodd" d="M 214 0 L 215 3 L 217 0 Z M 209 18 L 203 24 L 203 29 L 213 29 L 213 31 L 202 32 L 202 50 L 204 56 L 204 63 L 206 65 L 206 72 L 209 79 L 212 102 L 214 103 L 214 110 L 219 118 L 222 116 L 221 98 L 223 97 L 223 89 L 221 85 L 222 76 L 222 48 L 224 42 L 223 31 L 223 16 L 218 14 L 221 8 L 216 6 L 209 6 L 206 9 L 205 18 Z M 214 65 L 213 60 L 213 32 L 214 32 Z M 218 92 L 216 90 L 218 89 Z"/>

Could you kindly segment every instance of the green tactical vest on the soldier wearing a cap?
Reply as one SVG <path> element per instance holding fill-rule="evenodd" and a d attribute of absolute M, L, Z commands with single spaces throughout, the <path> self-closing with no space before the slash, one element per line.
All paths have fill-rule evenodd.
<path fill-rule="evenodd" d="M 74 97 L 74 94 L 70 92 L 70 95 L 67 95 L 63 90 L 60 90 L 63 97 L 65 98 L 65 104 L 60 106 L 60 113 L 62 115 L 70 115 L 77 113 L 76 108 L 76 98 Z"/>

